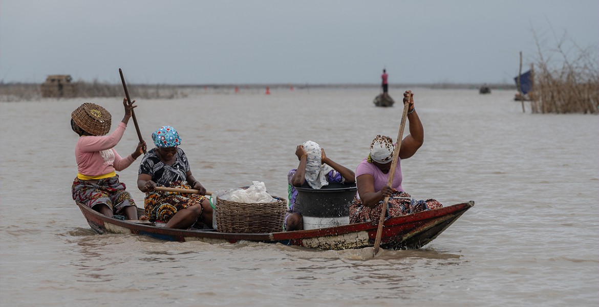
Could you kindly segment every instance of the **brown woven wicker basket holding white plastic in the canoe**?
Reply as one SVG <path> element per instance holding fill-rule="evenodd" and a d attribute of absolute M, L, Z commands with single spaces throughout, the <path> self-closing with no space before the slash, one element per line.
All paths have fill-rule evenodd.
<path fill-rule="evenodd" d="M 219 232 L 270 233 L 283 231 L 287 200 L 238 203 L 216 197 L 216 226 Z"/>

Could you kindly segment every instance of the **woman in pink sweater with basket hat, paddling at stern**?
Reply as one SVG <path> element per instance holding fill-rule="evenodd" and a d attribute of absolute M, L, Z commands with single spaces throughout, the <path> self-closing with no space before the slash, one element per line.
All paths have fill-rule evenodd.
<path fill-rule="evenodd" d="M 106 134 L 110 132 L 111 115 L 105 108 L 86 102 L 72 112 L 71 129 L 79 139 L 75 144 L 77 177 L 71 190 L 75 201 L 108 217 L 125 215 L 129 220 L 137 220 L 137 206 L 115 171 L 126 169 L 141 156 L 146 143 L 137 144 L 135 151 L 125 158 L 114 150 L 125 133 L 132 110 L 137 107 L 133 103 L 129 105 L 126 98 L 123 106 L 123 120 L 110 135 Z"/>

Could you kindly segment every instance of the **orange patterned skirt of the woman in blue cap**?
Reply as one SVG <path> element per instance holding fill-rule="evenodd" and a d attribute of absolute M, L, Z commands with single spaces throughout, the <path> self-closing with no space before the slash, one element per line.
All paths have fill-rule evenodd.
<path fill-rule="evenodd" d="M 170 184 L 170 187 L 191 189 L 187 181 L 174 181 Z M 189 208 L 196 203 L 202 203 L 204 199 L 206 197 L 200 194 L 152 191 L 146 194 L 144 208 L 150 221 L 167 223 L 179 210 Z"/>

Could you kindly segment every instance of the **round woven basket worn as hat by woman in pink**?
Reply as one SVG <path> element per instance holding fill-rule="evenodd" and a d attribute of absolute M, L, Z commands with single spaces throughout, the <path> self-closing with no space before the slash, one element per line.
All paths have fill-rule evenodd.
<path fill-rule="evenodd" d="M 86 102 L 71 113 L 71 118 L 77 126 L 92 135 L 106 135 L 110 132 L 112 117 L 99 105 Z"/>

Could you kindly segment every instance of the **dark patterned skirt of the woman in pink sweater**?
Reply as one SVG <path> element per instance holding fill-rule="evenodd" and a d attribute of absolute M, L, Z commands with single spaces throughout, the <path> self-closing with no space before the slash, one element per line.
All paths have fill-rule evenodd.
<path fill-rule="evenodd" d="M 125 207 L 135 206 L 131 194 L 125 189 L 125 184 L 119 182 L 119 175 L 100 179 L 97 183 L 79 180 L 75 177 L 71 192 L 75 201 L 84 203 L 89 208 L 104 203 L 112 209 L 113 214 L 125 215 L 125 212 L 123 212 Z"/>

